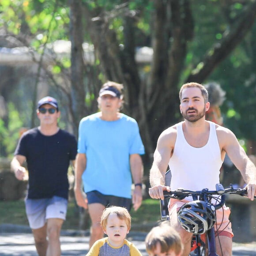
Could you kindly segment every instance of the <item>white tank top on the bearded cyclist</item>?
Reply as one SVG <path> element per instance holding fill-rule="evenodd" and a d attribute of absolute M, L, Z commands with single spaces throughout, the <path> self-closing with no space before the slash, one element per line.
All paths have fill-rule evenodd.
<path fill-rule="evenodd" d="M 177 139 L 169 161 L 172 173 L 171 190 L 177 188 L 215 190 L 215 184 L 219 183 L 222 166 L 215 123 L 209 121 L 209 139 L 207 144 L 200 148 L 188 144 L 184 137 L 182 123 L 177 124 Z M 186 199 L 190 200 L 190 198 Z"/>

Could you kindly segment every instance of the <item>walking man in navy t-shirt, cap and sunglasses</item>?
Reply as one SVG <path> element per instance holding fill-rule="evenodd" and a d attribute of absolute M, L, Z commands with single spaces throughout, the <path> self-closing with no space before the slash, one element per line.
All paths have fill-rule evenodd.
<path fill-rule="evenodd" d="M 26 215 L 39 256 L 60 256 L 60 230 L 68 205 L 68 167 L 77 153 L 75 136 L 58 127 L 60 110 L 55 98 L 38 102 L 40 125 L 19 139 L 11 169 L 23 180 L 26 161 L 29 186 Z"/>

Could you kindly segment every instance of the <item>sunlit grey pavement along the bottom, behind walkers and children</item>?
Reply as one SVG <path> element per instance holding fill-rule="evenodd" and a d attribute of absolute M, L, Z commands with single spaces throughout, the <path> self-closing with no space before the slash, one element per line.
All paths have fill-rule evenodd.
<path fill-rule="evenodd" d="M 143 256 L 147 255 L 144 244 L 145 233 L 131 234 L 129 240 L 136 245 Z M 61 236 L 62 256 L 85 256 L 88 252 L 89 236 L 65 233 Z M 233 256 L 256 256 L 256 242 L 233 243 Z M 37 256 L 34 238 L 31 233 L 8 233 L 0 230 L 0 256 Z"/>

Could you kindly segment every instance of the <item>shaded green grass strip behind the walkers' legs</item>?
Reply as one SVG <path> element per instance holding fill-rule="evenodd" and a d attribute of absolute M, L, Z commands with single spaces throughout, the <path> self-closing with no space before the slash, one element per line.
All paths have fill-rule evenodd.
<path fill-rule="evenodd" d="M 160 220 L 159 200 L 143 200 L 138 211 L 131 211 L 132 230 L 148 231 L 148 224 Z M 25 204 L 23 200 L 0 201 L 0 224 L 27 225 Z M 68 212 L 66 221 L 63 224 L 64 230 L 79 229 L 79 210 L 74 200 L 68 203 Z"/>

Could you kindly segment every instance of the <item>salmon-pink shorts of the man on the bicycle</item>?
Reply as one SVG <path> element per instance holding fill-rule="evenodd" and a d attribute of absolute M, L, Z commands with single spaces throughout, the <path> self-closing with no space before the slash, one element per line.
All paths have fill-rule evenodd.
<path fill-rule="evenodd" d="M 187 200 L 177 200 L 172 198 L 169 202 L 168 209 L 171 219 L 171 215 L 177 215 L 177 211 L 181 208 L 184 203 L 187 203 Z M 214 224 L 215 237 L 216 236 L 225 236 L 232 238 L 234 236 L 232 232 L 231 222 L 229 220 L 230 216 L 230 207 L 224 205 L 222 208 L 216 210 L 216 222 Z"/>

